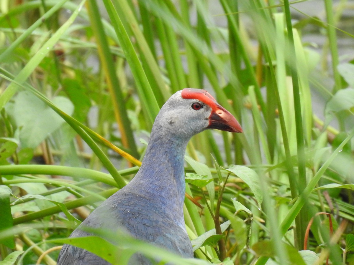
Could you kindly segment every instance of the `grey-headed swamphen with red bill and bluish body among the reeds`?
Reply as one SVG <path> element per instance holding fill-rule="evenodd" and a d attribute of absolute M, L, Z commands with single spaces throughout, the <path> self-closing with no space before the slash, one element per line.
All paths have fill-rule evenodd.
<path fill-rule="evenodd" d="M 193 250 L 184 224 L 184 153 L 189 139 L 205 129 L 242 132 L 237 120 L 205 90 L 185 88 L 173 94 L 155 119 L 142 165 L 124 188 L 110 196 L 70 237 L 92 235 L 89 228 L 128 231 L 133 237 L 184 258 Z M 82 230 L 80 229 L 82 228 Z M 84 249 L 64 245 L 58 265 L 109 264 Z M 129 264 L 151 264 L 135 254 Z"/>

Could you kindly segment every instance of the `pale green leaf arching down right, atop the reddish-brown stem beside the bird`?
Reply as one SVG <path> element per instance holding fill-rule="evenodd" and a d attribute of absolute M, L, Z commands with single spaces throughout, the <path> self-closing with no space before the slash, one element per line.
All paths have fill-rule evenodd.
<path fill-rule="evenodd" d="M 229 168 L 226 170 L 234 173 L 236 176 L 241 178 L 247 185 L 249 185 L 258 202 L 258 207 L 261 208 L 261 204 L 263 201 L 263 193 L 262 187 L 259 182 L 259 177 L 256 171 L 250 169 L 249 167 L 239 165 L 230 165 Z"/>

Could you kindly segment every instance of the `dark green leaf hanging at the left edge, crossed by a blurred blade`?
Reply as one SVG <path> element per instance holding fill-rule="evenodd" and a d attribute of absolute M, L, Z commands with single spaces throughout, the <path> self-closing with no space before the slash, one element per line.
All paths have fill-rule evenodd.
<path fill-rule="evenodd" d="M 5 230 L 13 226 L 11 207 L 10 207 L 10 195 L 11 189 L 5 185 L 0 185 L 0 230 Z M 15 248 L 14 236 L 2 238 L 1 244 L 9 248 Z"/>

